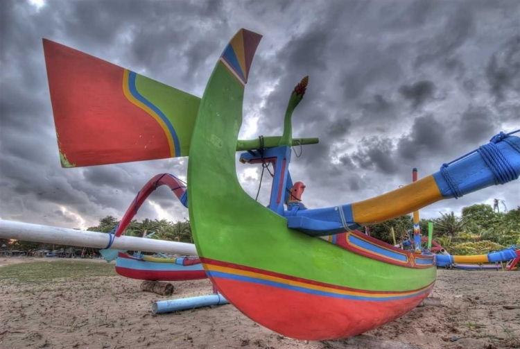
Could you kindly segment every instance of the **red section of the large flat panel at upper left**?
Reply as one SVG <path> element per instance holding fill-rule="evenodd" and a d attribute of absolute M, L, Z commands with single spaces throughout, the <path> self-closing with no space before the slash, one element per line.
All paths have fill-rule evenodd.
<path fill-rule="evenodd" d="M 124 68 L 50 40 L 44 54 L 62 167 L 171 158 L 164 129 L 125 96 Z"/>

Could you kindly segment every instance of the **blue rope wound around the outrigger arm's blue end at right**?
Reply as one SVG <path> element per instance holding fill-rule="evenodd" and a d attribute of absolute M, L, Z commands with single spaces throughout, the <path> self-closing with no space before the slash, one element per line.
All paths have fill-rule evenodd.
<path fill-rule="evenodd" d="M 458 186 L 456 180 L 454 180 L 453 177 L 450 175 L 447 167 L 450 164 L 453 164 L 454 162 L 462 160 L 463 158 L 467 158 L 467 156 L 473 153 L 479 153 L 480 156 L 482 156 L 484 162 L 487 164 L 487 167 L 491 169 L 496 182 L 499 182 L 500 184 L 505 184 L 518 178 L 518 175 L 514 170 L 514 167 L 512 167 L 512 164 L 509 162 L 508 158 L 505 158 L 499 147 L 496 146 L 496 143 L 503 141 L 508 143 L 515 150 L 520 151 L 519 146 L 517 146 L 517 144 L 512 142 L 512 140 L 509 138 L 510 135 L 517 132 L 520 132 L 520 129 L 514 130 L 510 133 L 501 132 L 498 135 L 494 135 L 492 139 L 489 139 L 488 144 L 480 146 L 475 151 L 471 151 L 470 153 L 462 155 L 460 158 L 448 162 L 447 164 L 442 164 L 442 167 L 440 168 L 440 173 L 442 174 L 444 180 L 446 180 L 448 187 L 451 190 L 451 193 L 453 193 L 454 198 L 460 198 L 463 195 L 463 193 L 462 190 L 460 190 L 460 187 Z"/>

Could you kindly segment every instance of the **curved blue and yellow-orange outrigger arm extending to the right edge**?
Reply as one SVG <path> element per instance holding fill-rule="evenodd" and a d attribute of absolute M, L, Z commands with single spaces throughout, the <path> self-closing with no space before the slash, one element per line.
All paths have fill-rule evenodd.
<path fill-rule="evenodd" d="M 488 144 L 443 164 L 440 171 L 381 196 L 348 205 L 286 212 L 289 228 L 311 236 L 334 235 L 409 214 L 520 176 L 520 138 L 499 133 Z"/>

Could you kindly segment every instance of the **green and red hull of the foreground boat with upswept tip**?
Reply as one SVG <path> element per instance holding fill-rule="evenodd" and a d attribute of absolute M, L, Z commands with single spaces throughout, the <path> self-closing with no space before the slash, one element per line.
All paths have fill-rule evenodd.
<path fill-rule="evenodd" d="M 198 256 L 230 303 L 285 336 L 338 339 L 388 323 L 428 296 L 435 257 L 407 253 L 357 232 L 331 242 L 297 232 L 240 185 L 236 139 L 259 38 L 245 30 L 233 37 L 200 103 L 188 163 Z"/>

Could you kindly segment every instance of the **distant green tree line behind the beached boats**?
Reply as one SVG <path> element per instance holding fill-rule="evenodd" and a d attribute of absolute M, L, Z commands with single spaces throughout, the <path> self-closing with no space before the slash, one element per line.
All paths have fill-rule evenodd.
<path fill-rule="evenodd" d="M 514 210 L 497 210 L 497 205 L 476 204 L 464 207 L 462 215 L 454 212 L 441 213 L 435 219 L 421 219 L 422 235 L 428 235 L 428 221 L 433 221 L 433 239 L 443 246 L 449 253 L 478 254 L 500 250 L 512 244 L 520 245 L 520 206 Z M 98 225 L 87 230 L 96 232 L 111 232 L 119 221 L 114 216 L 105 216 Z M 383 223 L 370 225 L 370 235 L 393 244 L 391 228 L 394 228 L 395 238 L 399 241 L 408 239 L 413 231 L 412 214 L 390 219 Z M 171 222 L 166 219 L 133 220 L 125 229 L 124 234 L 132 237 L 144 237 L 152 234 L 151 239 L 180 241 L 193 243 L 191 225 L 188 220 Z M 15 241 L 8 244 L 8 240 L 0 239 L 0 246 L 18 250 L 40 250 L 52 248 L 52 245 L 27 241 Z M 69 246 L 54 246 L 67 248 Z M 6 249 L 3 248 L 3 249 Z"/>

